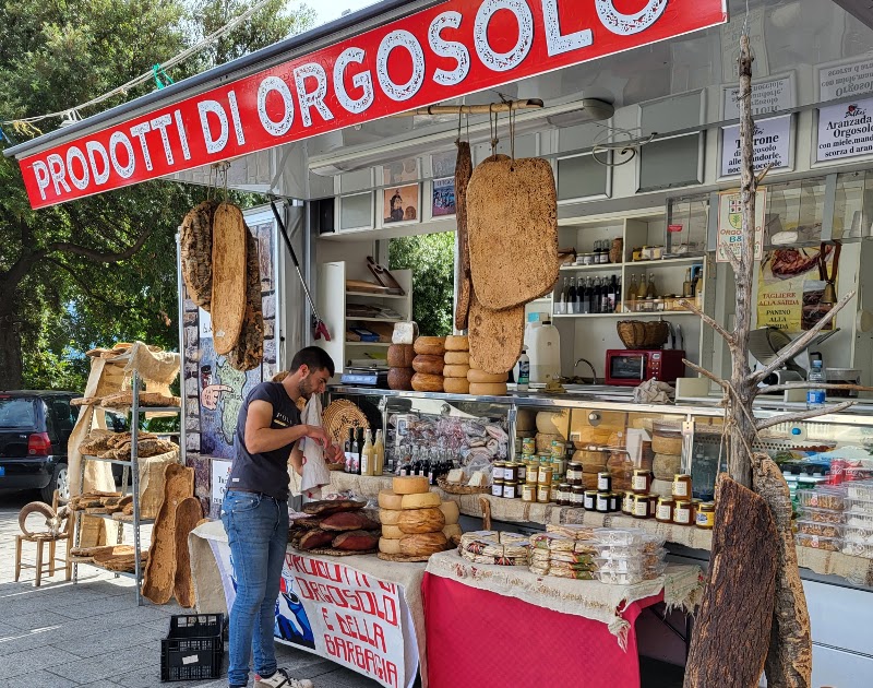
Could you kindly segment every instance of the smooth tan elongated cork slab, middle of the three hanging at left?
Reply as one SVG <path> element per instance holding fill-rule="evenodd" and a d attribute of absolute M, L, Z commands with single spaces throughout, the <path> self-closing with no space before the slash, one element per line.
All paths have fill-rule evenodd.
<path fill-rule="evenodd" d="M 246 244 L 242 211 L 231 203 L 215 210 L 212 226 L 212 328 L 215 353 L 237 345 L 246 317 Z"/>

